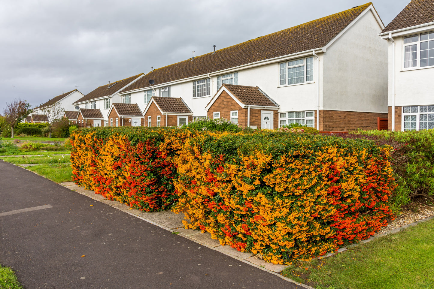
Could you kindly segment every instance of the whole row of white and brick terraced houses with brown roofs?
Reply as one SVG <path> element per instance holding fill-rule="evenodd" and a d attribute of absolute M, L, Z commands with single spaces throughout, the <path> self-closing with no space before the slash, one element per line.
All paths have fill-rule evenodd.
<path fill-rule="evenodd" d="M 153 69 L 60 102 L 81 126 L 241 127 L 320 131 L 434 128 L 434 0 L 412 0 L 384 26 L 372 3 Z M 39 116 L 36 116 L 39 114 Z M 43 120 L 40 120 L 43 121 Z"/>

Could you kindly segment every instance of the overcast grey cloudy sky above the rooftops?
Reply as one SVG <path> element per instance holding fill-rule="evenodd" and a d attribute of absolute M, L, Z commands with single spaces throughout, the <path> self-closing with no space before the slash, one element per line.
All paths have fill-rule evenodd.
<path fill-rule="evenodd" d="M 366 0 L 365 0 L 366 1 Z M 360 0 L 2 0 L 0 114 L 83 94 L 217 49 L 362 5 Z M 410 0 L 373 0 L 387 25 Z"/>

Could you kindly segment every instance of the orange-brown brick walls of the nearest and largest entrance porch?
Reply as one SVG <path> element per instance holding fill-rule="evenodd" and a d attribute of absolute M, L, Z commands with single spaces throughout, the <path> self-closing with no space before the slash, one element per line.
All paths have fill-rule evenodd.
<path fill-rule="evenodd" d="M 238 111 L 238 125 L 242 128 L 247 127 L 247 108 L 242 108 L 235 100 L 233 100 L 227 92 L 222 92 L 217 100 L 211 105 L 208 110 L 208 118 L 214 118 L 214 112 L 220 112 L 220 118 L 230 120 L 231 111 Z M 264 109 L 250 108 L 250 126 L 261 126 L 261 111 L 269 111 Z M 273 128 L 277 128 L 279 124 L 279 115 L 277 110 L 273 112 Z"/>

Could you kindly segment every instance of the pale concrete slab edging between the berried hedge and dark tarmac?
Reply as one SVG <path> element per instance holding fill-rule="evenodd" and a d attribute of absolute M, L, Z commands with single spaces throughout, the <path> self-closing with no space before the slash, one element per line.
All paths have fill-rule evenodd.
<path fill-rule="evenodd" d="M 97 199 L 94 196 L 91 195 L 90 192 L 92 192 L 93 194 L 95 194 L 93 191 L 89 191 L 89 190 L 85 190 L 82 187 L 78 187 L 76 184 L 74 184 L 73 182 L 66 182 L 66 183 L 60 183 L 63 187 L 69 188 L 72 191 L 75 191 L 79 194 L 85 195 L 87 197 L 91 197 L 94 200 L 98 200 L 104 204 L 107 204 L 109 206 L 112 206 L 118 210 L 122 210 L 125 213 L 128 213 L 136 218 L 139 218 L 141 220 L 144 220 L 148 223 L 151 223 L 155 226 L 160 227 L 161 229 L 164 230 L 168 230 L 169 232 L 172 233 L 177 233 L 179 236 L 182 236 L 184 238 L 187 238 L 189 240 L 194 241 L 197 244 L 200 244 L 201 246 L 205 246 L 207 248 L 210 248 L 212 250 L 216 250 L 222 254 L 225 254 L 226 256 L 229 256 L 231 258 L 237 259 L 243 263 L 246 263 L 250 266 L 256 267 L 258 269 L 261 269 L 263 271 L 266 271 L 268 273 L 271 273 L 273 275 L 278 276 L 281 279 L 284 279 L 288 282 L 294 283 L 297 286 L 301 286 L 303 288 L 306 289 L 315 289 L 311 286 L 296 282 L 293 279 L 289 279 L 288 277 L 285 277 L 283 275 L 280 275 L 279 272 L 282 271 L 283 269 L 286 268 L 285 265 L 274 265 L 272 263 L 267 263 L 262 259 L 256 259 L 253 254 L 251 253 L 243 253 L 243 252 L 238 252 L 238 253 L 231 253 L 230 249 L 232 248 L 226 248 L 226 246 L 221 246 L 220 242 L 214 239 L 211 239 L 210 234 L 209 233 L 202 233 L 200 230 L 191 230 L 191 229 L 185 229 L 184 225 L 181 223 L 179 227 L 175 228 L 175 227 L 168 227 L 165 226 L 164 224 L 158 223 L 156 222 L 155 218 L 153 218 L 154 220 L 151 220 L 148 216 L 151 216 L 152 214 L 158 214 L 161 212 L 157 212 L 157 213 L 145 213 L 145 212 L 141 212 L 140 210 L 135 210 L 135 209 L 131 209 L 129 208 L 127 205 L 119 203 L 117 201 L 112 201 L 112 200 L 108 200 L 107 198 L 103 199 Z M 88 193 L 89 192 L 89 193 Z M 88 193 L 88 194 L 87 194 Z M 95 194 L 98 195 L 98 194 Z M 98 195 L 101 196 L 101 195 Z M 102 196 L 101 196 L 102 197 Z M 123 206 L 122 206 L 123 205 Z M 172 213 L 172 212 L 170 212 Z M 175 213 L 173 213 L 175 214 Z M 161 219 L 161 218 L 156 218 Z M 179 219 L 179 218 L 177 218 Z M 172 227 L 172 228 L 171 228 Z M 208 236 L 209 235 L 209 236 Z M 235 249 L 233 249 L 235 250 Z M 234 255 L 235 254 L 235 255 Z M 238 256 L 237 256 L 238 255 Z M 243 256 L 244 258 L 242 258 L 241 256 Z M 253 262 L 252 262 L 253 261 Z"/>

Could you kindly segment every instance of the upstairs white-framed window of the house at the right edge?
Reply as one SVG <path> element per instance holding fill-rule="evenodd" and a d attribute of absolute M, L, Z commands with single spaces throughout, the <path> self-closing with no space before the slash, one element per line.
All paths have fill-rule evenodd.
<path fill-rule="evenodd" d="M 434 66 L 434 31 L 404 37 L 404 68 Z"/>

